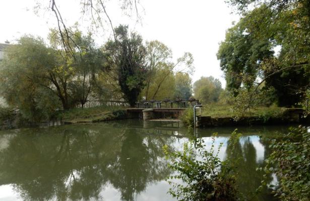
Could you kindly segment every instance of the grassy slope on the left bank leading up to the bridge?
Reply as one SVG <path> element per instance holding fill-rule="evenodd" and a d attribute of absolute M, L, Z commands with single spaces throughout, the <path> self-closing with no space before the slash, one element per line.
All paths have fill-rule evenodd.
<path fill-rule="evenodd" d="M 66 122 L 78 123 L 78 122 L 92 122 L 105 119 L 112 119 L 115 116 L 115 111 L 119 111 L 121 107 L 95 107 L 95 108 L 76 108 L 67 111 L 62 111 L 57 115 L 57 119 L 61 119 Z M 117 116 L 117 115 L 116 115 Z M 115 116 L 115 117 L 116 117 Z"/>

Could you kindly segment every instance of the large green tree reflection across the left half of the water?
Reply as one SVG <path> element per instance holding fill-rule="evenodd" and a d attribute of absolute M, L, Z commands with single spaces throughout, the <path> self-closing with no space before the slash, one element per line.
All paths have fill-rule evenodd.
<path fill-rule="evenodd" d="M 174 138 L 148 136 L 126 125 L 26 129 L 0 151 L 0 185 L 13 184 L 25 200 L 103 199 L 111 183 L 133 200 L 170 174 L 162 146 Z"/>

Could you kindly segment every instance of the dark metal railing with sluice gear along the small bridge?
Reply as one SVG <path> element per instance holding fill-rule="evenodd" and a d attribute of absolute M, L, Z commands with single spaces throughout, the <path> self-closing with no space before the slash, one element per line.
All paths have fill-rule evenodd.
<path fill-rule="evenodd" d="M 199 105 L 199 100 L 150 100 L 137 102 L 137 108 L 189 108 L 190 106 Z"/>

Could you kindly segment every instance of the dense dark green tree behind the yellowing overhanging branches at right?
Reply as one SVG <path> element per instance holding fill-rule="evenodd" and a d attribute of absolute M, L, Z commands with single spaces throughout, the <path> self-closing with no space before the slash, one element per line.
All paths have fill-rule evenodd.
<path fill-rule="evenodd" d="M 260 73 L 259 65 L 273 53 L 268 40 L 257 40 L 246 32 L 242 20 L 228 29 L 217 53 L 227 89 L 236 95 L 241 84 L 250 88 Z"/>

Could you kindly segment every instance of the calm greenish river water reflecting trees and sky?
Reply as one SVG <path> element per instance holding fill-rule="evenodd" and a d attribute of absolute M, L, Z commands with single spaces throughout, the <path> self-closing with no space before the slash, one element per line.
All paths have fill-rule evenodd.
<path fill-rule="evenodd" d="M 235 156 L 227 142 L 235 128 L 200 129 L 207 146 L 218 132 L 220 158 L 241 157 L 238 185 L 254 191 L 269 154 L 269 141 L 287 127 L 238 128 Z M 179 150 L 189 141 L 177 123 L 115 121 L 0 131 L 0 200 L 174 200 L 165 178 L 172 174 L 162 146 Z M 270 181 L 276 178 L 269 175 Z M 272 200 L 268 193 L 254 200 Z"/>

